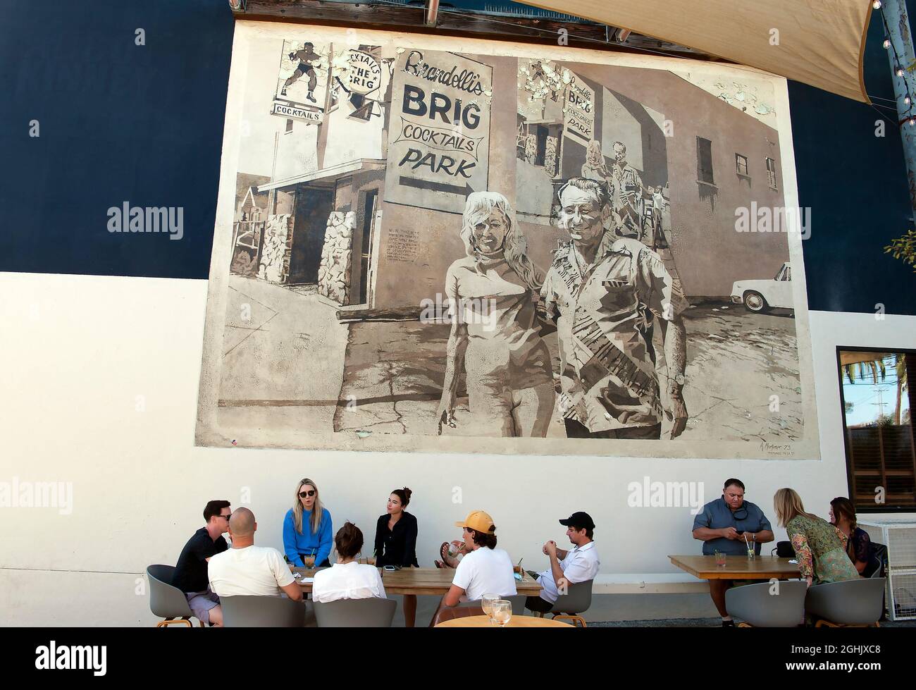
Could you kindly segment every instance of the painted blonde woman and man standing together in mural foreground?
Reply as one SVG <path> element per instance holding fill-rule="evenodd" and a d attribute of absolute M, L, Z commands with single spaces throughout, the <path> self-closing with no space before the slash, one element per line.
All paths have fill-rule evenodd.
<path fill-rule="evenodd" d="M 626 148 L 622 156 L 626 171 Z M 675 438 L 688 418 L 682 396 L 688 304 L 679 283 L 655 251 L 624 236 L 612 220 L 616 202 L 604 180 L 573 178 L 558 196 L 559 225 L 570 241 L 554 252 L 546 274 L 529 259 L 506 197 L 468 196 L 461 228 L 466 256 L 446 272 L 445 290 L 455 310 L 488 305 L 493 313 L 452 319 L 438 433 L 458 425 L 463 370 L 475 435 L 545 436 L 557 394 L 542 334 L 555 325 L 567 437 L 660 439 L 667 416 Z M 656 323 L 664 367 L 652 342 Z"/>

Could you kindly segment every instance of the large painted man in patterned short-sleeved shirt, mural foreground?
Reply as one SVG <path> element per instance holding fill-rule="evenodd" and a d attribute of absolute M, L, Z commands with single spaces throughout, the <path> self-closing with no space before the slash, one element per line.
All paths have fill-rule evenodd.
<path fill-rule="evenodd" d="M 604 185 L 573 178 L 560 190 L 560 225 L 572 242 L 554 257 L 540 295 L 557 318 L 561 345 L 560 411 L 569 438 L 671 438 L 687 424 L 684 365 L 687 308 L 679 285 L 654 251 L 605 231 L 612 203 Z M 662 329 L 665 369 L 652 345 Z M 670 399 L 663 411 L 660 380 Z"/>

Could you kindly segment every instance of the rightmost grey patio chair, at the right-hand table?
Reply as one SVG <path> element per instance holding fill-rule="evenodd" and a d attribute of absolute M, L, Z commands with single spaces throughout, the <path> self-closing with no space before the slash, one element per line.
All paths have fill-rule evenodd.
<path fill-rule="evenodd" d="M 811 586 L 805 597 L 805 611 L 818 619 L 815 628 L 861 628 L 870 625 L 878 628 L 886 582 L 885 577 L 859 577 Z"/>

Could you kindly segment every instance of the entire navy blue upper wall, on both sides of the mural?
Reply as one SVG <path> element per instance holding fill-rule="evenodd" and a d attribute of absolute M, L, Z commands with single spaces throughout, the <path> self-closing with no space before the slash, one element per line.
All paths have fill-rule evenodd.
<path fill-rule="evenodd" d="M 872 24 L 868 91 L 892 97 Z M 226 0 L 0 0 L 0 270 L 208 276 L 232 37 Z M 882 249 L 911 225 L 896 127 L 875 137 L 873 109 L 802 84 L 790 97 L 811 308 L 916 313 L 911 269 Z M 124 202 L 182 207 L 184 237 L 109 233 Z"/>

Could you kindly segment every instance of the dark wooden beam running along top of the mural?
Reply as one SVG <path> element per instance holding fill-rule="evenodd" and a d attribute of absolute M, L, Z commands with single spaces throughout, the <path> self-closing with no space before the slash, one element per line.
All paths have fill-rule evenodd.
<path fill-rule="evenodd" d="M 493 40 L 523 41 L 542 45 L 557 45 L 561 36 L 573 48 L 615 50 L 643 54 L 662 53 L 672 57 L 690 57 L 699 60 L 722 61 L 719 58 L 679 46 L 675 43 L 630 34 L 621 45 L 613 37 L 616 27 L 605 27 L 585 19 L 560 21 L 551 18 L 492 16 L 474 10 L 440 9 L 436 27 L 426 24 L 427 7 L 420 5 L 381 5 L 368 3 L 323 2 L 322 0 L 229 0 L 236 19 L 259 21 L 284 21 L 339 27 L 364 27 L 382 30 L 407 29 L 414 33 L 489 38 Z M 438 3 L 438 0 L 431 0 Z M 610 38 L 610 39 L 609 39 Z"/>

